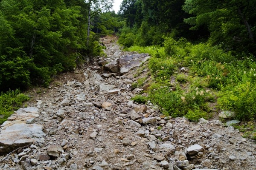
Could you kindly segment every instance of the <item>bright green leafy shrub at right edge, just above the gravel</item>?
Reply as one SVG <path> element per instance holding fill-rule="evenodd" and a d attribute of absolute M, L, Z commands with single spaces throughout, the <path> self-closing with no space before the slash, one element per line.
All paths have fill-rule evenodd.
<path fill-rule="evenodd" d="M 256 84 L 244 82 L 225 91 L 218 99 L 218 106 L 222 110 L 234 111 L 236 113 L 236 119 L 255 119 Z"/>

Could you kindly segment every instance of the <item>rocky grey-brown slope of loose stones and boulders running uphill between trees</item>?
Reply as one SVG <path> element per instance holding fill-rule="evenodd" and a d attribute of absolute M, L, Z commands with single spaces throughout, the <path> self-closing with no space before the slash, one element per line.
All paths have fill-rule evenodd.
<path fill-rule="evenodd" d="M 116 40 L 102 38 L 107 58 L 61 75 L 1 125 L 1 170 L 256 170 L 256 144 L 232 126 L 131 101 L 149 56 Z"/>

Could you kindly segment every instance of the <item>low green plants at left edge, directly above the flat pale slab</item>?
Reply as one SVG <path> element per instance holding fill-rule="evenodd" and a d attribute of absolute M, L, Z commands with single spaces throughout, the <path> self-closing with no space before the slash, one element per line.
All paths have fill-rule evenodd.
<path fill-rule="evenodd" d="M 29 100 L 29 97 L 21 94 L 19 90 L 2 92 L 0 94 L 0 125 L 27 100 Z"/>

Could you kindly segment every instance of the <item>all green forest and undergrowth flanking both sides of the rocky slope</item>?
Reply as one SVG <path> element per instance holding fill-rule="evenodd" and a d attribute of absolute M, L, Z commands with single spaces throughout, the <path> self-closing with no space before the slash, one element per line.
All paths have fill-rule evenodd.
<path fill-rule="evenodd" d="M 0 0 L 0 91 L 49 85 L 56 74 L 104 56 L 99 37 L 115 33 L 126 50 L 152 56 L 148 96 L 134 100 L 192 121 L 209 118 L 209 105 L 255 120 L 255 0 L 123 0 L 118 14 L 112 5 Z M 173 76 L 180 85 L 170 83 Z"/>

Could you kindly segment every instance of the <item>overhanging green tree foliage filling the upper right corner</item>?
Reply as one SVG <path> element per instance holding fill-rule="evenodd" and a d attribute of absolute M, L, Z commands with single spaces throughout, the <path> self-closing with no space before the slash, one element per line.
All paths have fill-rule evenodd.
<path fill-rule="evenodd" d="M 255 53 L 254 8 L 253 0 L 185 0 L 183 9 L 193 16 L 184 21 L 192 25 L 192 30 L 207 26 L 209 42 L 213 45 L 221 44 L 227 50 Z"/>

